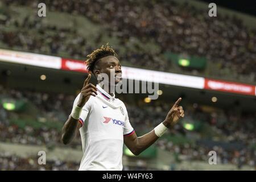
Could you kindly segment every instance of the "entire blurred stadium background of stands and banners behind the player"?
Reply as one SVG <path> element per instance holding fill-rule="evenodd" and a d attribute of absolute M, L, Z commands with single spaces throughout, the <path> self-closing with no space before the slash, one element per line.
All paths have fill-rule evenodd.
<path fill-rule="evenodd" d="M 125 78 L 158 77 L 159 98 L 118 94 L 137 134 L 182 97 L 185 118 L 124 170 L 255 170 L 255 16 L 201 1 L 0 2 L 0 169 L 77 170 L 80 136 L 61 128 L 86 77 L 82 60 L 109 42 Z M 155 72 L 156 71 L 156 72 Z M 96 83 L 96 80 L 93 80 Z M 46 165 L 38 151 L 46 151 Z M 208 152 L 217 152 L 217 165 Z"/>

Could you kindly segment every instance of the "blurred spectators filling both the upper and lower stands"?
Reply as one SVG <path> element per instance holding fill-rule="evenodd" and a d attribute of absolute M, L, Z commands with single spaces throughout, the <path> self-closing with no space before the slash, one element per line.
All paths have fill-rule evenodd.
<path fill-rule="evenodd" d="M 39 1 L 3 0 L 5 5 L 26 5 L 38 9 Z M 47 9 L 72 15 L 82 15 L 96 24 L 101 24 L 104 31 L 97 35 L 96 44 L 102 42 L 102 36 L 117 36 L 119 44 L 126 52 L 119 55 L 121 60 L 131 65 L 147 67 L 158 71 L 170 71 L 172 65 L 163 56 L 166 52 L 185 53 L 207 57 L 220 68 L 218 76 L 232 73 L 234 78 L 241 75 L 253 77 L 256 70 L 256 31 L 243 25 L 237 17 L 218 14 L 210 18 L 208 12 L 196 9 L 184 3 L 174 1 L 45 1 Z M 94 48 L 81 36 L 75 27 L 63 28 L 47 24 L 42 18 L 27 15 L 19 21 L 9 9 L 0 11 L 0 43 L 10 49 L 59 55 L 65 52 L 74 59 L 85 59 Z M 157 27 L 157 28 L 156 28 Z M 145 51 L 141 44 L 151 42 L 159 49 Z M 0 47 L 1 48 L 1 47 Z M 117 52 L 119 52 L 118 48 Z M 229 70 L 229 72 L 225 72 Z M 223 72 L 222 72 L 223 71 Z M 215 76 L 215 75 L 213 75 Z M 31 92 L 28 90 L 4 89 L 0 85 L 1 98 L 23 100 L 32 104 L 38 112 L 33 115 L 35 121 L 54 121 L 63 123 L 70 114 L 75 96 Z M 166 117 L 169 105 L 126 104 L 129 119 L 135 131 L 150 131 Z M 160 148 L 177 154 L 177 160 L 206 160 L 210 150 L 217 151 L 218 162 L 232 163 L 241 167 L 243 164 L 256 166 L 255 114 L 235 113 L 232 110 L 207 112 L 201 106 L 185 108 L 189 122 L 207 123 L 212 130 L 221 135 L 226 143 L 236 142 L 238 148 L 227 149 L 222 145 L 205 146 L 200 142 L 175 144 L 171 140 L 159 139 Z M 24 117 L 19 112 L 7 111 L 0 105 L 0 141 L 61 146 L 61 129 L 25 126 L 20 128 L 11 121 Z M 31 118 L 30 118 L 31 119 Z M 144 133 L 144 132 L 143 132 Z M 181 135 L 189 138 L 199 135 L 197 140 L 209 138 L 201 136 L 201 131 L 188 131 L 182 122 L 169 135 Z M 209 139 L 210 140 L 210 139 Z M 77 136 L 71 147 L 81 147 Z M 22 165 L 21 165 L 22 164 Z M 42 169 L 76 170 L 77 163 L 52 160 L 49 166 L 40 167 L 34 158 L 19 158 L 0 154 L 1 169 Z M 129 167 L 127 167 L 129 169 Z M 132 168 L 131 168 L 132 169 Z"/>

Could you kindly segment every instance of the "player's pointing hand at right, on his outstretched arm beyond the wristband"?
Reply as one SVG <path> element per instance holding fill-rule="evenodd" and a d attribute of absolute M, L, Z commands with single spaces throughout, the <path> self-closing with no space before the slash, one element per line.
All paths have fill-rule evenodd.
<path fill-rule="evenodd" d="M 172 127 L 177 123 L 177 121 L 179 121 L 180 118 L 184 118 L 184 110 L 182 106 L 179 106 L 180 101 L 181 98 L 175 102 L 174 106 L 172 106 L 171 110 L 168 112 L 166 119 L 164 119 L 163 124 L 166 127 Z"/>

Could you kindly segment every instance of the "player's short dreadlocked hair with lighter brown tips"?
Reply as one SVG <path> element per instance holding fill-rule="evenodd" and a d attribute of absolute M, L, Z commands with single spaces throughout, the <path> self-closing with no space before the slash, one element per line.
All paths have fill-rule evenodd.
<path fill-rule="evenodd" d="M 87 55 L 88 59 L 85 61 L 85 63 L 87 64 L 88 71 L 93 72 L 96 61 L 106 56 L 117 56 L 117 53 L 115 53 L 113 48 L 109 47 L 108 43 L 106 46 L 101 46 L 101 48 L 98 48 Z"/>

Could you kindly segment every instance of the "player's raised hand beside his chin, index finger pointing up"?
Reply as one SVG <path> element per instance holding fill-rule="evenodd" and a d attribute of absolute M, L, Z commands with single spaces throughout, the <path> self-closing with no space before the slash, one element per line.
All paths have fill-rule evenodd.
<path fill-rule="evenodd" d="M 77 106 L 79 107 L 84 107 L 85 103 L 89 100 L 90 96 L 96 97 L 97 95 L 96 86 L 93 84 L 89 84 L 90 77 L 91 75 L 89 74 L 84 81 L 84 86 L 82 86 L 79 101 L 77 102 Z"/>

